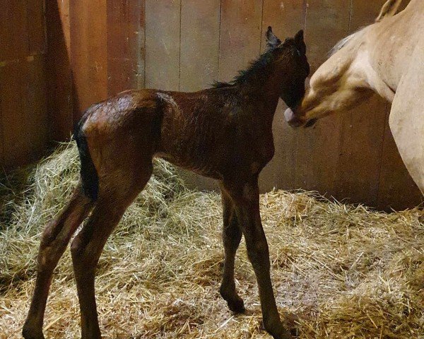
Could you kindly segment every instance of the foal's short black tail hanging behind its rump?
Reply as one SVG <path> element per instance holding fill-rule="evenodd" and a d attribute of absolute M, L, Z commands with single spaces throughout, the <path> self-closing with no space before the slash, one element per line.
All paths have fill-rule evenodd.
<path fill-rule="evenodd" d="M 96 201 L 99 193 L 99 177 L 93 164 L 93 159 L 91 159 L 87 138 L 83 131 L 83 125 L 87 117 L 88 114 L 84 114 L 78 124 L 76 124 L 73 130 L 73 138 L 78 145 L 78 153 L 81 160 L 80 174 L 83 193 L 92 201 Z"/>

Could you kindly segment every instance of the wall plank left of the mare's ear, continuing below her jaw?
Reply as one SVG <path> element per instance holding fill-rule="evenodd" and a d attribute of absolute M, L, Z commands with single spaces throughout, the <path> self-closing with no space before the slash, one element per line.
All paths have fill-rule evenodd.
<path fill-rule="evenodd" d="M 349 34 L 374 23 L 384 0 L 352 0 Z M 386 102 L 377 95 L 341 114 L 341 141 L 334 196 L 377 206 L 386 123 Z"/>

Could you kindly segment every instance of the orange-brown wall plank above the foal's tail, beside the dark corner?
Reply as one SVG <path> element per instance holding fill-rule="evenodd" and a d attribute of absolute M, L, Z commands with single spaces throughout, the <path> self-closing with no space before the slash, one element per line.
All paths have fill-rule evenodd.
<path fill-rule="evenodd" d="M 73 120 L 107 98 L 106 1 L 70 1 L 71 68 L 75 92 Z"/>

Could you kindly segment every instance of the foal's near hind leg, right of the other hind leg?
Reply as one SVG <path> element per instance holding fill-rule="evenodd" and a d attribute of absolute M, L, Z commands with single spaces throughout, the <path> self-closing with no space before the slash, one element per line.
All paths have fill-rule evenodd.
<path fill-rule="evenodd" d="M 81 338 L 101 338 L 98 314 L 95 304 L 95 266 L 102 249 L 114 227 L 121 220 L 126 208 L 136 198 L 151 177 L 151 165 L 143 169 L 142 178 L 137 183 L 124 184 L 102 191 L 90 219 L 81 232 L 73 239 L 71 253 L 73 271 L 81 307 Z M 131 180 L 137 174 L 120 177 L 122 181 Z M 100 186 L 101 187 L 101 186 Z"/>

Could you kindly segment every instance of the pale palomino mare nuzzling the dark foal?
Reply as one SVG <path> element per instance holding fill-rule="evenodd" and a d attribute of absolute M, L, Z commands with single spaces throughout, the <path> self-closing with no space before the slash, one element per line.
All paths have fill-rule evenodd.
<path fill-rule="evenodd" d="M 424 194 L 424 1 L 384 4 L 377 22 L 341 40 L 310 81 L 302 104 L 285 111 L 292 126 L 310 126 L 370 97 L 393 102 L 389 125 L 404 163 Z"/>

